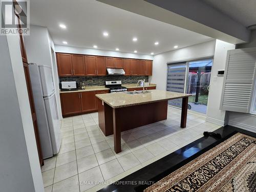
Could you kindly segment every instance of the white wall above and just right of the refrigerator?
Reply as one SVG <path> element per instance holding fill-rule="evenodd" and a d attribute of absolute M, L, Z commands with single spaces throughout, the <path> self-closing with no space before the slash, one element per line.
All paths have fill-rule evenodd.
<path fill-rule="evenodd" d="M 57 66 L 55 64 L 55 47 L 48 29 L 46 27 L 31 25 L 30 35 L 24 36 L 24 44 L 29 63 L 32 62 L 37 65 L 46 65 L 52 68 L 58 115 L 59 119 L 62 119 L 58 85 L 59 79 Z"/>

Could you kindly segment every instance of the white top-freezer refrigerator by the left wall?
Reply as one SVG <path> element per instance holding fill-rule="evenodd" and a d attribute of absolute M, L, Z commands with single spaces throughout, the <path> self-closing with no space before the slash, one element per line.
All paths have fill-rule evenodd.
<path fill-rule="evenodd" d="M 53 84 L 52 69 L 29 64 L 29 73 L 35 103 L 42 156 L 50 158 L 59 152 L 61 143 L 60 121 Z"/>

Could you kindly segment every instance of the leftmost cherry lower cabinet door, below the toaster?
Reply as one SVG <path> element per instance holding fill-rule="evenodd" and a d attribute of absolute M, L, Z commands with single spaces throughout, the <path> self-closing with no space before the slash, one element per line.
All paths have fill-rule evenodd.
<path fill-rule="evenodd" d="M 81 101 L 79 92 L 61 93 L 60 99 L 62 115 L 81 113 Z"/>

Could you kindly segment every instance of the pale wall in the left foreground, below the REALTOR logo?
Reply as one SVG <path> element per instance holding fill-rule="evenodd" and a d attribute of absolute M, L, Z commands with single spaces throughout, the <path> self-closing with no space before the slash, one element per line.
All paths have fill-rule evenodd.
<path fill-rule="evenodd" d="M 0 190 L 44 191 L 18 36 L 0 36 Z"/>

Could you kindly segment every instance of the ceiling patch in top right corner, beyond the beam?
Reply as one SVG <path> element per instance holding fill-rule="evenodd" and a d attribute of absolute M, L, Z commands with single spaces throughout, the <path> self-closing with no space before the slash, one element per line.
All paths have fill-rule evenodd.
<path fill-rule="evenodd" d="M 255 0 L 203 0 L 206 4 L 248 27 L 256 24 Z"/>

